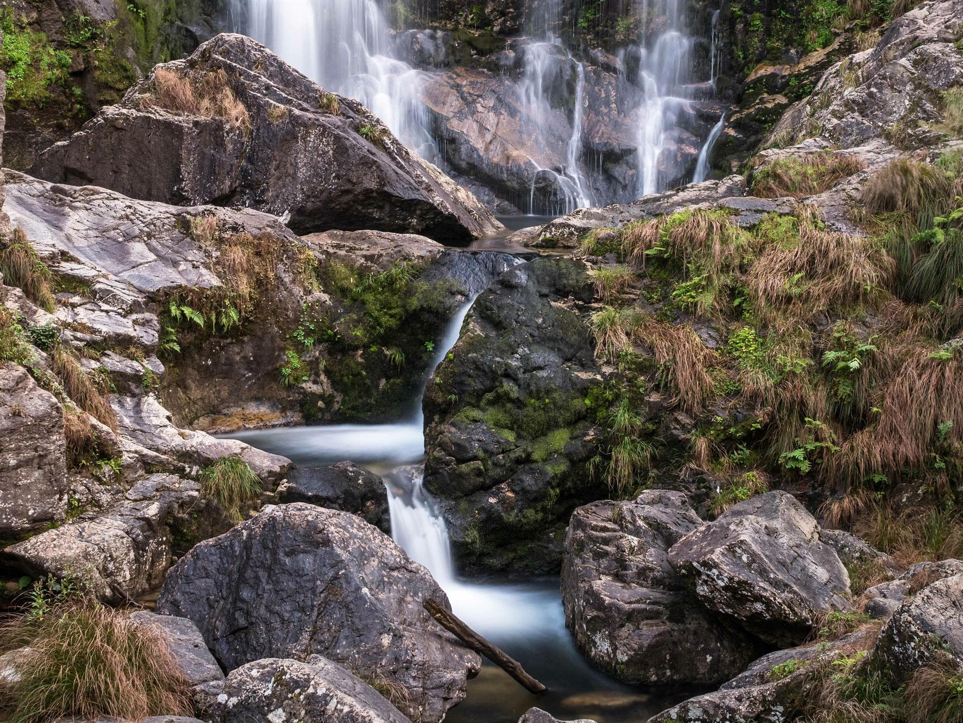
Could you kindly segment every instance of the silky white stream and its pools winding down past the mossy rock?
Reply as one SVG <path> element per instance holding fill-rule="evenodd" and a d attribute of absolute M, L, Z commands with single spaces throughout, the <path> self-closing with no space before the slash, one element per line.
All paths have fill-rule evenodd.
<path fill-rule="evenodd" d="M 455 314 L 436 347 L 429 370 L 455 346 L 471 303 Z M 423 380 L 428 382 L 429 373 Z M 561 719 L 593 718 L 600 723 L 640 723 L 690 697 L 691 688 L 646 691 L 620 684 L 595 670 L 565 628 L 558 578 L 529 581 L 467 581 L 455 574 L 445 521 L 422 486 L 425 469 L 421 397 L 402 422 L 386 425 L 299 426 L 223 435 L 289 457 L 300 467 L 344 459 L 384 479 L 395 541 L 425 565 L 448 594 L 455 614 L 518 659 L 549 692 L 533 695 L 485 661 L 469 681 L 468 696 L 446 718 L 452 723 L 514 723 L 537 706 Z"/>

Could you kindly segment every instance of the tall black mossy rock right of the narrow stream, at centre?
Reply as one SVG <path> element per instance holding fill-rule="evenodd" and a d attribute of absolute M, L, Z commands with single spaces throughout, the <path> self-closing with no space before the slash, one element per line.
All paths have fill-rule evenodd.
<path fill-rule="evenodd" d="M 507 271 L 429 380 L 425 484 L 466 567 L 557 570 L 568 513 L 601 494 L 583 470 L 594 453 L 586 398 L 602 381 L 590 297 L 580 262 Z"/>

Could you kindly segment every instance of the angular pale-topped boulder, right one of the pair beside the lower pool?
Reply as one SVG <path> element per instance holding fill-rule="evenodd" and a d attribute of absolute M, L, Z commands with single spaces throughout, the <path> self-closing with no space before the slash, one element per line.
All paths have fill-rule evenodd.
<path fill-rule="evenodd" d="M 705 607 L 779 646 L 801 642 L 820 615 L 847 610 L 849 576 L 820 526 L 787 492 L 728 509 L 668 551 Z"/>

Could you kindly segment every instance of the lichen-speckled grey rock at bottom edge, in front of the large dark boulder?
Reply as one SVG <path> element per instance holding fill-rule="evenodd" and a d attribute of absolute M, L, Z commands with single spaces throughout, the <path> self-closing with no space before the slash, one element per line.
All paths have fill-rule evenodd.
<path fill-rule="evenodd" d="M 374 679 L 372 683 L 381 684 Z M 264 658 L 231 671 L 211 719 L 216 723 L 334 719 L 339 723 L 410 723 L 374 687 L 321 656 L 305 661 Z"/>

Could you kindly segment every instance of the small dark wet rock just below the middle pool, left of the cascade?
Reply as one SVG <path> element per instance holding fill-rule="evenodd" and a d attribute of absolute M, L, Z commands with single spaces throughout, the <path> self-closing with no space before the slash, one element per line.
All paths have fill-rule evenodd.
<path fill-rule="evenodd" d="M 317 504 L 355 514 L 383 532 L 391 529 L 388 493 L 374 472 L 350 461 L 328 467 L 295 468 L 277 488 L 277 501 Z"/>

